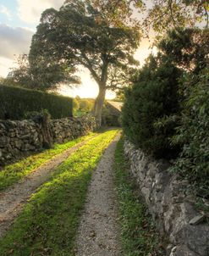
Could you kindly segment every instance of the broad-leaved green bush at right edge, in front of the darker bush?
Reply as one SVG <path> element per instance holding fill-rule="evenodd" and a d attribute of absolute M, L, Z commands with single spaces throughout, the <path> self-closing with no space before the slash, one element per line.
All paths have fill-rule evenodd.
<path fill-rule="evenodd" d="M 209 69 L 188 75 L 187 82 L 181 125 L 173 137 L 184 147 L 173 170 L 186 177 L 199 196 L 209 198 Z"/>

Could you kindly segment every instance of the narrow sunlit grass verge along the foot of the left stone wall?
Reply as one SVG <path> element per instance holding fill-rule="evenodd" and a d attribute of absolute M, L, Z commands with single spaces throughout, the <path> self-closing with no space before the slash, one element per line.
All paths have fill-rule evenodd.
<path fill-rule="evenodd" d="M 63 153 L 75 144 L 83 142 L 93 136 L 95 136 L 95 134 L 91 133 L 88 136 L 82 136 L 71 142 L 55 144 L 53 148 L 45 150 L 42 153 L 31 155 L 30 157 L 20 160 L 15 164 L 7 165 L 0 171 L 0 191 L 3 191 L 8 186 L 13 185 L 26 175 L 29 175 L 32 171 L 36 170 L 42 164 L 46 164 L 48 160 L 57 156 L 59 153 Z"/>

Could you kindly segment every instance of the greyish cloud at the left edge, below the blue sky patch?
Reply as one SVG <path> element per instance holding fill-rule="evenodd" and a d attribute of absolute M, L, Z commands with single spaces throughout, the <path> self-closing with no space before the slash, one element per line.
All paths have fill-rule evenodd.
<path fill-rule="evenodd" d="M 0 57 L 14 59 L 14 54 L 29 53 L 33 34 L 27 28 L 0 24 Z"/>

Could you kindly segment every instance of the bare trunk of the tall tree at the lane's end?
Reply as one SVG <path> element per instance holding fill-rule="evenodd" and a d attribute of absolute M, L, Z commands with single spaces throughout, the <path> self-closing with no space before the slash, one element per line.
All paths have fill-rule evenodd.
<path fill-rule="evenodd" d="M 99 86 L 99 94 L 96 97 L 94 105 L 94 115 L 96 117 L 97 125 L 100 127 L 102 125 L 102 106 L 105 100 L 106 88 L 105 86 Z"/>

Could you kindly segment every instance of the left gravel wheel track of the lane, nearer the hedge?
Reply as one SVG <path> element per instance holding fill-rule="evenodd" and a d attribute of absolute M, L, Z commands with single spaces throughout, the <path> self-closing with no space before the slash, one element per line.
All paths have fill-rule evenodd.
<path fill-rule="evenodd" d="M 92 138 L 94 137 L 95 136 Z M 52 171 L 57 168 L 58 165 L 62 164 L 71 153 L 74 153 L 74 151 L 91 139 L 80 142 L 74 147 L 60 153 L 52 160 L 49 160 L 47 164 L 41 165 L 40 168 L 36 169 L 30 175 L 27 175 L 23 181 L 19 181 L 14 186 L 9 187 L 5 192 L 0 193 L 0 237 L 3 237 L 3 234 L 8 231 L 9 226 L 18 216 L 24 204 L 27 202 L 27 199 L 30 198 L 33 192 L 36 192 L 36 189 L 41 186 L 41 184 L 48 180 Z"/>

